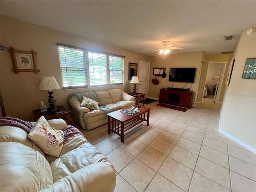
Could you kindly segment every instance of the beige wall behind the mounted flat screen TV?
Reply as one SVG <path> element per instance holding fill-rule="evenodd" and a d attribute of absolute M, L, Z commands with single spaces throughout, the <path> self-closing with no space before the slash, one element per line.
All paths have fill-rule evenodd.
<path fill-rule="evenodd" d="M 203 51 L 197 51 L 197 52 L 188 52 L 188 53 L 179 53 L 179 54 L 169 54 L 166 55 L 166 58 L 163 59 L 162 56 L 154 56 L 152 57 L 152 62 L 150 66 L 150 82 L 149 82 L 149 96 L 154 98 L 159 98 L 159 90 L 161 88 L 167 88 L 172 87 L 172 82 L 169 82 L 169 71 L 170 68 L 189 68 L 189 67 L 195 67 L 196 68 L 196 74 L 195 74 L 195 80 L 192 84 L 191 91 L 194 91 L 194 98 L 196 96 L 197 92 L 197 86 L 198 86 L 198 79 L 199 79 L 199 71 L 200 71 L 200 65 L 202 61 L 202 54 Z M 166 77 L 156 77 L 159 81 L 158 85 L 154 85 L 152 83 L 152 78 L 155 78 L 153 76 L 153 68 L 166 68 Z M 183 88 L 183 86 L 186 83 L 183 82 L 173 82 L 174 88 Z M 184 88 L 189 88 L 191 86 L 191 83 L 188 83 Z M 193 99 L 194 103 L 194 99 Z"/>

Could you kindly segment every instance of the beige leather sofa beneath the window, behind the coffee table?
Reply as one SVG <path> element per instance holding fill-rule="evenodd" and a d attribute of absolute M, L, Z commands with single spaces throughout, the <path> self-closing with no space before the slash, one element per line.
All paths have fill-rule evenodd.
<path fill-rule="evenodd" d="M 135 104 L 134 97 L 120 89 L 95 91 L 94 93 L 99 101 L 99 105 L 108 107 L 110 112 Z M 69 103 L 73 110 L 75 122 L 83 129 L 91 130 L 108 122 L 104 111 L 90 110 L 87 107 L 80 106 L 81 102 L 76 97 L 70 99 Z"/>

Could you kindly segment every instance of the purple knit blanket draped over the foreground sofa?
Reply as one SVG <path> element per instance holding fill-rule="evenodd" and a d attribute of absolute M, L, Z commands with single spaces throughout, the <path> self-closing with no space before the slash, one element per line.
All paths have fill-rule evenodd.
<path fill-rule="evenodd" d="M 18 128 L 23 129 L 26 131 L 28 134 L 30 130 L 32 129 L 32 125 L 29 124 L 28 122 L 15 118 L 15 117 L 0 117 L 0 126 L 5 126 L 5 125 L 10 125 L 10 126 L 16 126 Z M 64 134 L 64 140 L 63 143 L 66 143 L 69 141 L 69 138 L 73 134 L 80 134 L 84 136 L 78 128 L 75 128 L 74 126 L 68 125 L 66 129 L 63 130 Z"/>

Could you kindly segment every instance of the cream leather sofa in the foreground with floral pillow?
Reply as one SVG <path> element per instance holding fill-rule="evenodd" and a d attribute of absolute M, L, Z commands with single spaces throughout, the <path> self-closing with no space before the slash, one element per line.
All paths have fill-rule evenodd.
<path fill-rule="evenodd" d="M 49 120 L 56 130 L 62 119 Z M 0 127 L 0 190 L 2 192 L 110 192 L 116 185 L 112 163 L 84 136 L 74 134 L 59 158 L 44 154 L 16 126 Z"/>

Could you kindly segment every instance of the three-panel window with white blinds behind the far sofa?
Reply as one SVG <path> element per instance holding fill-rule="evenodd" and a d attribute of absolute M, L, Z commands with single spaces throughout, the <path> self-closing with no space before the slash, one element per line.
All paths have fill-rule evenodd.
<path fill-rule="evenodd" d="M 58 44 L 63 89 L 124 83 L 124 56 Z"/>

